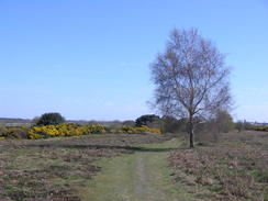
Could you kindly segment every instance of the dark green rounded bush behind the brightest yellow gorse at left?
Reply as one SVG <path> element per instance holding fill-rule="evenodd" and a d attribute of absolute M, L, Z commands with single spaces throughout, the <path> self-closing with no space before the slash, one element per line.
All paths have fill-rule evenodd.
<path fill-rule="evenodd" d="M 62 116 L 62 114 L 59 113 L 44 113 L 42 114 L 42 116 L 40 118 L 40 120 L 37 121 L 37 125 L 56 125 L 56 124 L 60 124 L 64 123 L 65 119 L 64 116 Z"/>

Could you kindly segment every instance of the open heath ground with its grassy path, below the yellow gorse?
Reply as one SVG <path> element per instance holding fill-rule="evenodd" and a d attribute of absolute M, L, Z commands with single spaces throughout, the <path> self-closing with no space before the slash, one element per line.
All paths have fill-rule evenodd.
<path fill-rule="evenodd" d="M 267 133 L 186 146 L 149 134 L 0 141 L 0 200 L 268 200 Z"/>

